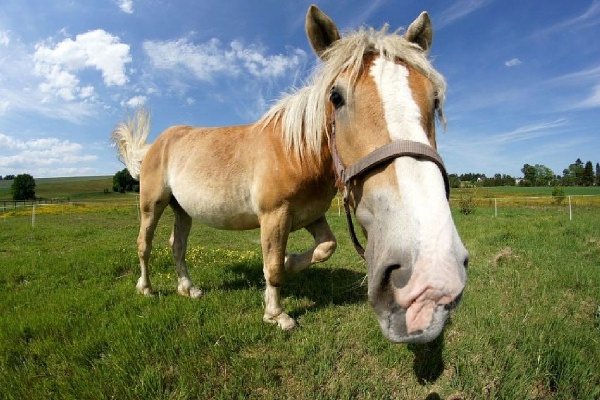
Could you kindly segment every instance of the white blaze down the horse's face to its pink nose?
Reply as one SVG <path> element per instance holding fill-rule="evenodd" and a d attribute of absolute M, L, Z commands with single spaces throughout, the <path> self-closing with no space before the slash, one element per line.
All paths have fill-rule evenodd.
<path fill-rule="evenodd" d="M 421 125 L 421 110 L 413 99 L 410 70 L 378 58 L 370 69 L 381 96 L 390 139 L 430 144 Z M 435 306 L 449 302 L 463 287 L 456 266 L 456 228 L 437 165 L 412 157 L 394 161 L 398 179 L 396 206 L 379 219 L 389 241 L 411 254 L 413 273 L 406 287 L 395 289 L 396 302 L 407 308 L 408 332 L 425 329 Z M 389 202 L 388 202 L 389 204 Z M 381 211 L 383 211 L 382 208 Z M 460 239 L 458 239 L 460 240 Z"/>

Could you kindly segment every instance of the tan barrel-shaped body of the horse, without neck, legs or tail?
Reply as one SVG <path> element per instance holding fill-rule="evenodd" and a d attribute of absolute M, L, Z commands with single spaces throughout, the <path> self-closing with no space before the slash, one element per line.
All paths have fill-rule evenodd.
<path fill-rule="evenodd" d="M 279 132 L 177 125 L 151 145 L 140 186 L 161 182 L 189 215 L 219 229 L 253 229 L 261 215 L 288 207 L 295 230 L 323 215 L 335 194 L 310 170 L 285 154 Z"/>

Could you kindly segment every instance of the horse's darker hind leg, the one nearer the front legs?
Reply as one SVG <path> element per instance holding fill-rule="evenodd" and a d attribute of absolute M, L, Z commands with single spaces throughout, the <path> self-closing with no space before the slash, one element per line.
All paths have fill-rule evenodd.
<path fill-rule="evenodd" d="M 202 296 L 202 291 L 192 283 L 192 278 L 189 277 L 187 264 L 185 263 L 187 237 L 189 236 L 189 229 L 192 227 L 192 217 L 181 208 L 177 200 L 171 199 L 170 205 L 175 214 L 175 224 L 173 225 L 173 232 L 171 232 L 169 243 L 171 249 L 173 249 L 175 269 L 177 270 L 177 277 L 179 277 L 177 292 L 182 296 L 196 299 Z"/>

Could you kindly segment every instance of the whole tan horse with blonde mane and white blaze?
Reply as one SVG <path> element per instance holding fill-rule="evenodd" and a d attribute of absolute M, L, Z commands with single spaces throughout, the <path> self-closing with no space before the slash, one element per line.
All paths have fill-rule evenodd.
<path fill-rule="evenodd" d="M 339 188 L 368 241 L 368 300 L 383 335 L 430 342 L 461 298 L 469 257 L 446 199 L 445 170 L 432 157 L 400 154 L 340 185 L 343 171 L 334 166 L 334 158 L 352 165 L 399 141 L 435 153 L 446 83 L 427 57 L 430 18 L 421 13 L 403 34 L 384 25 L 342 37 L 331 18 L 310 6 L 305 28 L 320 63 L 306 86 L 282 96 L 256 123 L 177 125 L 148 144 L 149 111 L 138 108 L 115 128 L 119 158 L 139 179 L 137 291 L 153 295 L 148 261 L 167 206 L 175 215 L 177 292 L 191 298 L 203 294 L 185 261 L 192 218 L 221 230 L 260 228 L 263 320 L 292 330 L 296 321 L 281 304 L 284 274 L 334 253 L 325 213 Z M 302 228 L 314 246 L 287 254 L 289 233 Z"/>

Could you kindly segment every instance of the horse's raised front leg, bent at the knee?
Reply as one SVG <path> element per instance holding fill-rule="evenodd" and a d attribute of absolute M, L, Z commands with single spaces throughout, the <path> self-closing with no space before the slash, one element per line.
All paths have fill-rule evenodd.
<path fill-rule="evenodd" d="M 314 263 L 327 261 L 335 251 L 337 243 L 331 232 L 325 215 L 315 222 L 306 225 L 308 232 L 315 238 L 315 246 L 304 253 L 289 253 L 285 255 L 285 270 L 298 272 Z"/>

